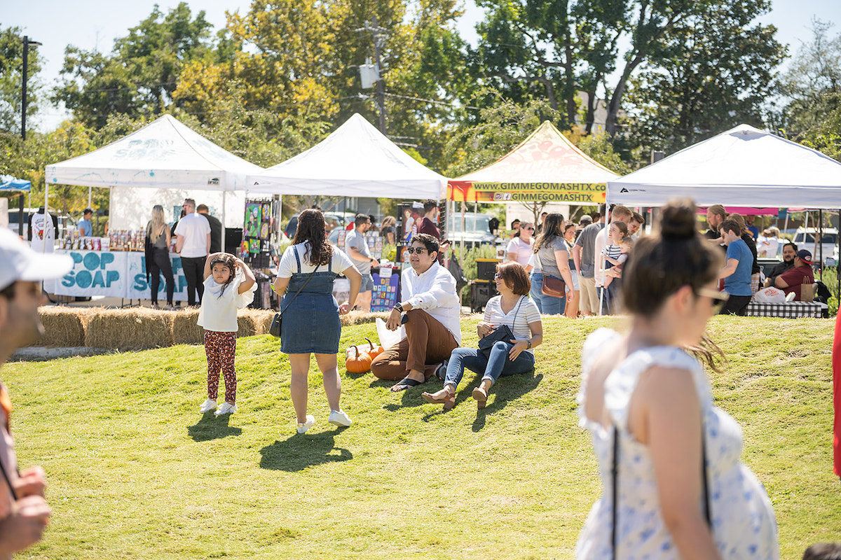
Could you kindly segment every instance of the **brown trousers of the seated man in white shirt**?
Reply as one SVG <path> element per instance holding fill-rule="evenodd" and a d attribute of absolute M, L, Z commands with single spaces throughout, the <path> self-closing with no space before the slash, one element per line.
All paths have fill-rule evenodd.
<path fill-rule="evenodd" d="M 438 364 L 450 358 L 458 348 L 452 332 L 422 309 L 406 311 L 406 338 L 391 348 L 386 348 L 371 364 L 371 372 L 379 379 L 398 381 L 410 369 L 424 372 L 429 379 Z"/>

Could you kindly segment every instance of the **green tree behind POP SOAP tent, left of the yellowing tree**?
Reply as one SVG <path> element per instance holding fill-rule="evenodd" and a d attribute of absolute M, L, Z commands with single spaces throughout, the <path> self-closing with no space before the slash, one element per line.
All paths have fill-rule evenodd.
<path fill-rule="evenodd" d="M 52 96 L 74 118 L 100 128 L 112 113 L 160 115 L 185 65 L 211 50 L 204 12 L 193 18 L 187 3 L 164 15 L 157 5 L 148 18 L 114 41 L 106 55 L 74 46 L 65 50 L 64 81 Z M 227 44 L 225 44 L 227 46 Z"/>

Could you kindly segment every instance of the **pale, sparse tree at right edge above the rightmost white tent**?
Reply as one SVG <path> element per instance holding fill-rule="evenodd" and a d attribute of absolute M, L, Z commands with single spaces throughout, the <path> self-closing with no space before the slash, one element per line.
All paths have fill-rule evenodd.
<path fill-rule="evenodd" d="M 784 136 L 841 161 L 841 34 L 812 21 L 812 42 L 803 44 L 780 76 L 783 106 L 773 115 Z"/>

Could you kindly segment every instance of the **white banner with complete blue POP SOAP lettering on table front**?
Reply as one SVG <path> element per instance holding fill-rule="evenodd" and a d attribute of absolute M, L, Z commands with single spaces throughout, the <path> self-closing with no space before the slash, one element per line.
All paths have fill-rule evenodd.
<path fill-rule="evenodd" d="M 56 295 L 125 297 L 127 253 L 57 249 L 56 254 L 73 259 L 73 270 L 56 281 Z"/>

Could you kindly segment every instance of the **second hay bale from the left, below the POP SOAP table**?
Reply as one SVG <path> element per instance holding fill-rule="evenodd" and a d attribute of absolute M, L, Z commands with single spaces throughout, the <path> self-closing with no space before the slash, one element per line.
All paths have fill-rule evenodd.
<path fill-rule="evenodd" d="M 172 346 L 172 312 L 93 307 L 85 328 L 85 346 L 120 350 Z"/>

